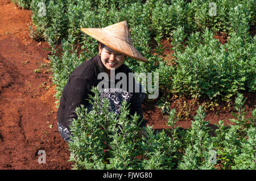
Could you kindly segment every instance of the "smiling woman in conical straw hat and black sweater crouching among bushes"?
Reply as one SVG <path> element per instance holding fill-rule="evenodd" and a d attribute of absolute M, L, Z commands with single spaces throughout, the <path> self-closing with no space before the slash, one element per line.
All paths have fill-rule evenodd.
<path fill-rule="evenodd" d="M 98 78 L 100 73 L 108 74 L 110 78 L 115 78 L 115 75 L 118 73 L 125 73 L 127 77 L 129 77 L 129 73 L 132 73 L 132 71 L 123 64 L 126 56 L 143 62 L 147 61 L 146 58 L 133 47 L 126 21 L 105 28 L 81 28 L 81 31 L 99 41 L 99 54 L 78 66 L 72 72 L 63 89 L 59 110 L 57 111 L 57 125 L 60 135 L 65 141 L 71 140 L 69 127 L 72 125 L 73 119 L 77 118 L 75 113 L 76 108 L 80 107 L 81 104 L 84 104 L 85 107 L 90 107 L 86 99 L 89 98 L 89 94 L 92 94 L 90 91 L 92 86 L 97 86 L 102 81 L 102 79 Z M 110 70 L 114 70 L 114 74 L 112 74 L 113 71 Z M 138 123 L 140 123 L 143 119 L 141 102 L 144 99 L 144 94 L 141 91 L 134 91 L 138 83 L 135 82 L 133 78 L 133 89 L 127 92 L 129 89 L 115 89 L 112 81 L 113 80 L 110 79 L 110 81 L 107 81 L 108 87 L 103 87 L 105 91 L 101 92 L 101 99 L 109 99 L 111 110 L 117 114 L 120 113 L 122 100 L 125 100 L 128 104 L 130 103 L 130 114 L 134 115 L 134 113 L 137 112 L 137 115 L 140 116 Z M 130 82 L 128 81 L 127 78 L 127 86 L 129 87 L 131 84 L 129 85 Z M 117 82 L 115 81 L 115 83 Z M 114 84 L 114 86 L 115 85 L 116 84 Z M 139 127 L 144 127 L 145 125 L 143 120 Z"/>

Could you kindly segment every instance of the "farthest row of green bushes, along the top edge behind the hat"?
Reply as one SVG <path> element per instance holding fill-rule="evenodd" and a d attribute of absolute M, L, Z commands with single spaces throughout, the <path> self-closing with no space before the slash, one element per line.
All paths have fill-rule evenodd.
<path fill-rule="evenodd" d="M 131 27 L 143 24 L 150 29 L 152 35 L 170 36 L 179 26 L 184 26 L 188 33 L 201 31 L 206 27 L 214 33 L 227 32 L 234 28 L 231 20 L 232 12 L 238 5 L 241 5 L 242 11 L 247 11 L 250 23 L 255 23 L 254 1 L 13 0 L 13 2 L 34 12 L 32 16 L 34 23 L 38 28 L 42 27 L 37 31 L 39 36 L 47 37 L 44 33 L 47 30 L 43 28 L 53 27 L 55 39 L 67 35 L 81 36 L 80 27 L 104 27 L 122 19 L 126 19 Z M 44 18 L 38 16 L 38 12 L 43 9 L 42 5 L 39 5 L 41 3 L 46 5 Z M 63 13 L 61 18 L 60 13 Z"/>

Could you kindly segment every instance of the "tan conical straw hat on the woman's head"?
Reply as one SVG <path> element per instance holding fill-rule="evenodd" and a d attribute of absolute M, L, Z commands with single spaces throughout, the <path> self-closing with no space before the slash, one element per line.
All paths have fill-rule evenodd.
<path fill-rule="evenodd" d="M 119 53 L 125 54 L 135 60 L 147 61 L 147 59 L 133 47 L 126 21 L 115 23 L 105 28 L 81 28 L 81 31 Z"/>

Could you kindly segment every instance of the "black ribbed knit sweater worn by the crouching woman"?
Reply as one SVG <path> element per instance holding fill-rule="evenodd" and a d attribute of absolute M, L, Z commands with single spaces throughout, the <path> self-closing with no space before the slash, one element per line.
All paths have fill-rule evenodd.
<path fill-rule="evenodd" d="M 102 65 L 100 56 L 94 56 L 88 61 L 85 61 L 83 64 L 78 66 L 71 74 L 68 79 L 67 84 L 63 89 L 63 94 L 60 98 L 60 106 L 57 111 L 57 121 L 64 127 L 66 127 L 69 131 L 69 126 L 72 125 L 73 118 L 77 118 L 75 110 L 77 107 L 80 107 L 83 104 L 85 107 L 88 106 L 89 94 L 93 95 L 90 91 L 92 86 L 97 86 L 101 79 L 97 79 L 98 74 L 105 72 L 104 67 Z M 118 69 L 115 70 L 115 74 L 122 72 L 127 75 L 127 81 L 129 77 L 129 73 L 132 71 L 127 67 L 127 65 L 122 64 Z M 133 82 L 135 83 L 135 79 L 133 78 Z M 117 81 L 115 81 L 115 84 Z M 110 82 L 109 82 L 110 85 Z M 127 83 L 129 86 L 129 83 Z M 135 87 L 135 86 L 133 86 Z M 129 89 L 127 89 L 128 91 Z M 130 115 L 134 115 L 137 112 L 137 115 L 140 116 L 138 123 L 143 118 L 141 101 L 139 99 L 140 93 L 130 92 L 131 99 L 130 103 Z M 145 126 L 144 120 L 142 121 L 139 127 Z"/>

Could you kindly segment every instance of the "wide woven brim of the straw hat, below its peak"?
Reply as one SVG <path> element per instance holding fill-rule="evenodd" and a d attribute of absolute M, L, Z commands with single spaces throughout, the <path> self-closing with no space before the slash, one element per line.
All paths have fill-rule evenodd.
<path fill-rule="evenodd" d="M 143 62 L 147 61 L 147 59 L 144 58 L 133 45 L 118 39 L 118 37 L 104 31 L 102 28 L 81 28 L 81 31 L 119 53 L 125 54 L 135 60 Z"/>

